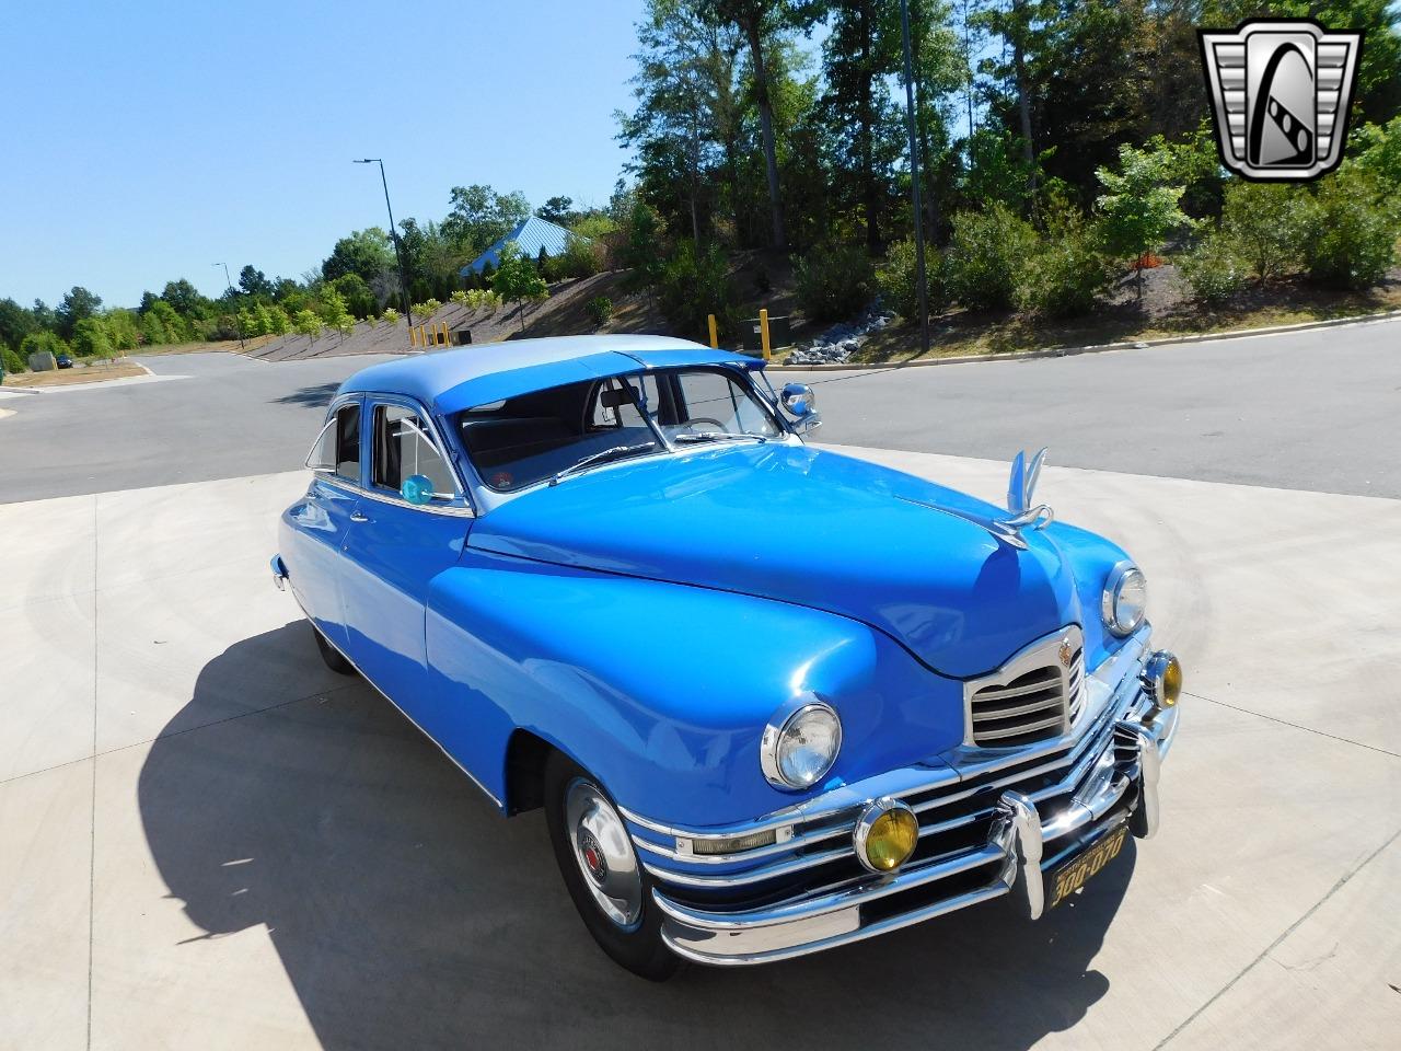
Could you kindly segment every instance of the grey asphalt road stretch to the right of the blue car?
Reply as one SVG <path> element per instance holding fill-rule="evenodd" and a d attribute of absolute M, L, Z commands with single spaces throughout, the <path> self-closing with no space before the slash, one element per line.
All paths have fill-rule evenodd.
<path fill-rule="evenodd" d="M 1401 497 L 1401 321 L 817 384 L 821 441 Z"/>

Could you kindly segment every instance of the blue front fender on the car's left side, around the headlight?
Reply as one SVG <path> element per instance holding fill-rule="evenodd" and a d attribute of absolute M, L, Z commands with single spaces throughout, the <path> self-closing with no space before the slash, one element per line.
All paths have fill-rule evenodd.
<path fill-rule="evenodd" d="M 743 821 L 918 762 L 962 737 L 961 685 L 871 628 L 766 598 L 468 549 L 434 579 L 426 726 L 506 797 L 517 727 L 658 820 Z M 775 789 L 759 737 L 806 691 L 845 741 L 808 793 Z"/>

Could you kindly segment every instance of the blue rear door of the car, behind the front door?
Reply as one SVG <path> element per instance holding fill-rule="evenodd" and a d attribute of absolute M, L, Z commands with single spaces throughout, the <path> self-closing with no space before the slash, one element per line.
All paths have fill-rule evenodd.
<path fill-rule="evenodd" d="M 360 395 L 353 395 L 331 406 L 331 416 L 307 455 L 311 485 L 287 509 L 282 534 L 293 594 L 317 629 L 342 652 L 346 619 L 340 551 L 360 503 L 361 402 Z"/>

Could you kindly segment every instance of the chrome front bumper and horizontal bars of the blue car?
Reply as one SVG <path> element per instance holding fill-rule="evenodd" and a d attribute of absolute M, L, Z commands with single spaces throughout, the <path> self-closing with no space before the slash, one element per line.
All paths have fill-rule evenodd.
<path fill-rule="evenodd" d="M 1128 818 L 1157 828 L 1157 772 L 1177 733 L 1139 681 L 1140 629 L 1089 680 L 1083 717 L 1063 737 L 947 765 L 891 771 L 743 828 L 675 830 L 625 813 L 664 914 L 663 939 L 706 964 L 769 963 L 909 926 L 1010 895 L 1024 915 L 1045 908 L 1042 873 Z M 850 828 L 871 799 L 895 796 L 920 821 L 920 845 L 892 876 L 860 869 Z M 743 853 L 699 841 L 775 832 Z"/>

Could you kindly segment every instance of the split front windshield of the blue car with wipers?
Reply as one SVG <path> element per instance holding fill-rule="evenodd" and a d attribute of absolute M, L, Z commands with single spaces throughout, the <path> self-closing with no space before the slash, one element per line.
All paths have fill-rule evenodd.
<path fill-rule="evenodd" d="M 457 416 L 482 481 L 497 492 L 563 481 L 689 441 L 768 440 L 772 412 L 730 369 L 664 369 L 551 387 Z"/>

